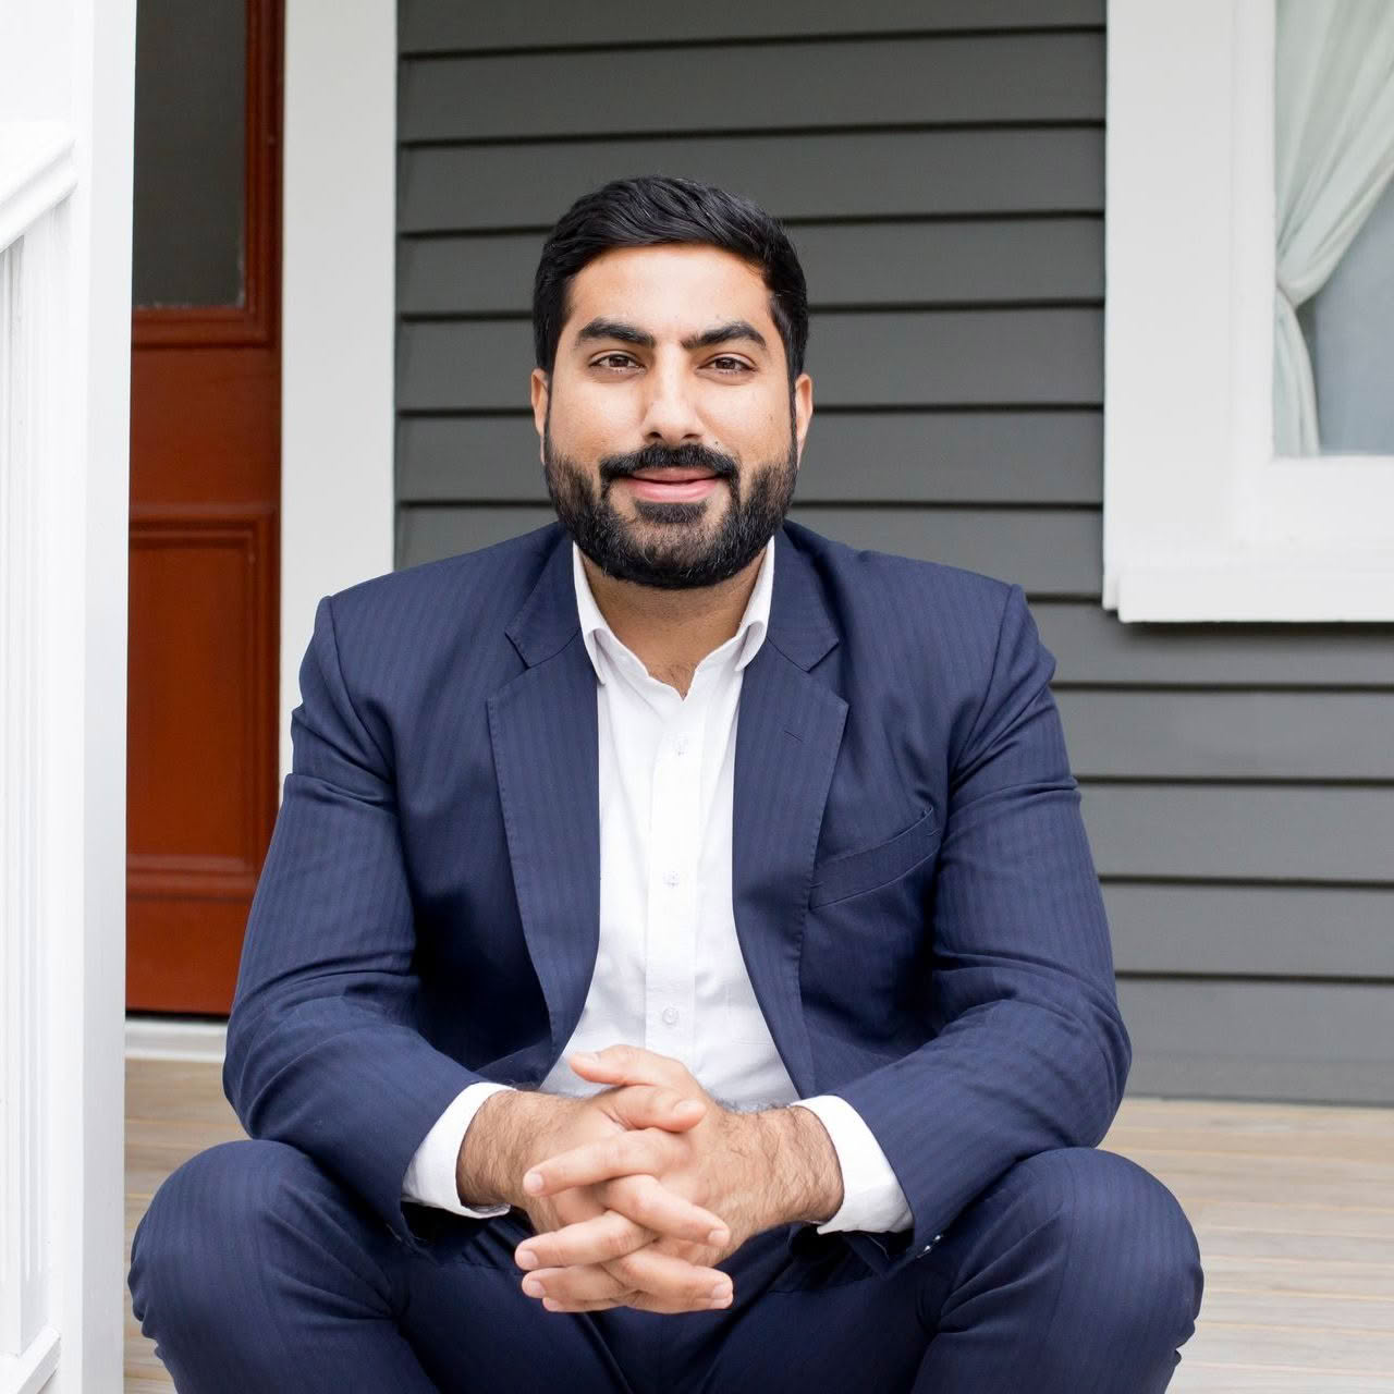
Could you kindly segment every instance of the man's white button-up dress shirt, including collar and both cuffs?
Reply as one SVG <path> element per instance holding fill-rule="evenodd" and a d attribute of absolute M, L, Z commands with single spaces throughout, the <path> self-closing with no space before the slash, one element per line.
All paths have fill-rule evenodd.
<path fill-rule="evenodd" d="M 797 1098 L 736 937 L 736 718 L 744 666 L 769 623 L 774 569 L 771 538 L 740 627 L 703 658 L 683 697 L 615 637 L 572 544 L 581 636 L 597 676 L 599 945 L 580 1020 L 541 1089 L 598 1093 L 608 1086 L 581 1079 L 567 1057 L 627 1041 L 682 1061 L 729 1107 L 809 1108 L 842 1168 L 842 1204 L 818 1232 L 907 1230 L 905 1193 L 861 1115 L 834 1094 Z M 466 1129 L 484 1100 L 507 1087 L 482 1082 L 460 1092 L 411 1158 L 406 1199 L 478 1218 L 509 1209 L 461 1204 L 456 1189 Z"/>

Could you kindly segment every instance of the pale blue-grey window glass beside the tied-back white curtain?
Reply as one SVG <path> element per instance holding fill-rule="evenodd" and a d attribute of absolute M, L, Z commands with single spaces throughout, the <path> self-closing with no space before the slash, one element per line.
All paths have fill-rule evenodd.
<path fill-rule="evenodd" d="M 1323 454 L 1394 454 L 1394 184 L 1298 314 Z"/>

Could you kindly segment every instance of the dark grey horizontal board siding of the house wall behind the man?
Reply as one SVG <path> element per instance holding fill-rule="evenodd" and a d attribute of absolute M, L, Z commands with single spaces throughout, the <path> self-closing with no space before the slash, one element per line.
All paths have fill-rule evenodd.
<path fill-rule="evenodd" d="M 811 297 L 790 516 L 1020 583 L 1055 654 L 1129 1087 L 1394 1103 L 1394 627 L 1098 602 L 1103 0 L 400 15 L 399 565 L 553 517 L 556 216 L 634 173 L 749 194 Z"/>

